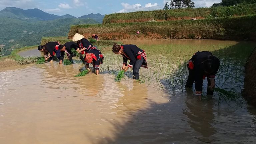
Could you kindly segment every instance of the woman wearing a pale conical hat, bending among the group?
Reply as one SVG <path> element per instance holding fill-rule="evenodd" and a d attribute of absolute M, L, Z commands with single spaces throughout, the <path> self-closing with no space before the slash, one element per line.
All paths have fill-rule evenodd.
<path fill-rule="evenodd" d="M 83 35 L 80 35 L 76 33 L 72 39 L 73 41 L 77 41 L 77 45 L 79 50 L 77 50 L 79 53 L 84 54 L 84 51 L 87 50 L 89 46 L 93 46 L 86 38 L 84 38 Z M 81 59 L 84 59 L 81 55 Z M 83 60 L 84 62 L 84 60 Z"/>

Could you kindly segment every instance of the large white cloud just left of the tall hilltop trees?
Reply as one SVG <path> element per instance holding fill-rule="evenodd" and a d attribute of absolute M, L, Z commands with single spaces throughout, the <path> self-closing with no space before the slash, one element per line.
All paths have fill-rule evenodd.
<path fill-rule="evenodd" d="M 128 3 L 121 3 L 121 5 L 123 6 L 123 9 L 120 10 L 120 11 L 117 11 L 116 13 L 162 9 L 158 6 L 157 3 L 154 3 L 154 4 L 147 3 L 145 6 L 142 6 L 141 4 L 132 4 L 132 5 L 130 5 Z"/>

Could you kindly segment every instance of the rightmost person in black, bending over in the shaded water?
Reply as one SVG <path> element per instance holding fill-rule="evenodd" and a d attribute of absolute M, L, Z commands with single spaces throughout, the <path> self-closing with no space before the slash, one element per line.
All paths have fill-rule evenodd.
<path fill-rule="evenodd" d="M 218 72 L 220 60 L 209 51 L 196 52 L 189 60 L 188 80 L 185 87 L 192 87 L 195 81 L 196 95 L 202 95 L 203 79 L 207 77 L 207 94 L 212 95 L 215 87 L 215 74 Z"/>

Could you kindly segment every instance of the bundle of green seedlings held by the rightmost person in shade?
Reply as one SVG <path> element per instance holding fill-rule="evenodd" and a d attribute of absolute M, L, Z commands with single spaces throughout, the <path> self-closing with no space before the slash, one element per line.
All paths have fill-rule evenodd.
<path fill-rule="evenodd" d="M 239 98 L 241 98 L 240 94 L 237 92 L 227 91 L 222 88 L 213 88 L 213 90 L 215 90 L 219 94 L 218 104 L 220 104 L 222 98 L 225 100 L 225 102 L 227 101 L 236 102 Z"/>

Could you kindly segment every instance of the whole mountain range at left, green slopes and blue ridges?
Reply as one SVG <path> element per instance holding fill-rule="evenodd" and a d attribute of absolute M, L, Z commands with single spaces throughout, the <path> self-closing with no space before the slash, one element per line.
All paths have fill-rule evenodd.
<path fill-rule="evenodd" d="M 69 14 L 53 15 L 40 9 L 6 7 L 0 11 L 0 56 L 8 55 L 16 48 L 39 45 L 42 37 L 66 37 L 71 25 L 99 24 L 103 18 L 101 14 L 76 18 Z"/>

